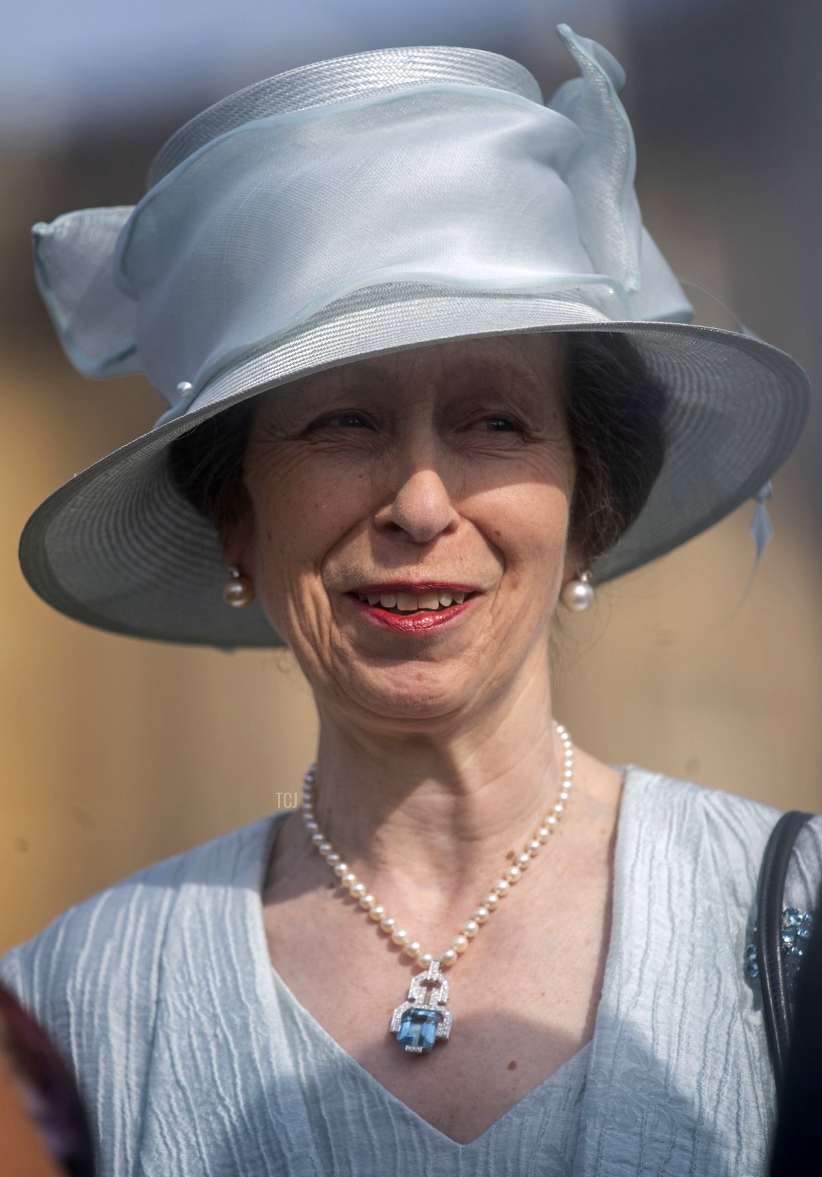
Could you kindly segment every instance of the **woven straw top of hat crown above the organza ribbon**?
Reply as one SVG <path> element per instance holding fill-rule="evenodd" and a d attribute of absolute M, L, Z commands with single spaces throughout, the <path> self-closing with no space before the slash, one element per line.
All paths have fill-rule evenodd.
<path fill-rule="evenodd" d="M 257 119 L 431 85 L 488 86 L 543 101 L 524 66 L 485 49 L 409 46 L 313 61 L 230 94 L 186 122 L 154 157 L 148 187 L 206 144 Z"/>

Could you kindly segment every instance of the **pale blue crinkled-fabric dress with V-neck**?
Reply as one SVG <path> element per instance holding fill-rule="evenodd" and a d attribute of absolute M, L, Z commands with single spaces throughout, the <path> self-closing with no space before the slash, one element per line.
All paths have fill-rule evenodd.
<path fill-rule="evenodd" d="M 763 1172 L 774 1085 L 743 960 L 775 810 L 627 770 L 594 1039 L 464 1145 L 271 967 L 260 891 L 284 817 L 148 867 L 0 960 L 79 1077 L 100 1177 Z M 815 818 L 788 903 L 808 910 L 821 875 Z"/>

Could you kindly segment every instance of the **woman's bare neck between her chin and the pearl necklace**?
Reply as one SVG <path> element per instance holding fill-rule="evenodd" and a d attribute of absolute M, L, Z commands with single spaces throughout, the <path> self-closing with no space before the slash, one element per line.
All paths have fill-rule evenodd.
<path fill-rule="evenodd" d="M 496 706 L 435 734 L 374 732 L 321 713 L 314 807 L 380 902 L 413 896 L 415 906 L 453 918 L 455 904 L 476 906 L 533 837 L 561 774 L 541 658 Z"/>

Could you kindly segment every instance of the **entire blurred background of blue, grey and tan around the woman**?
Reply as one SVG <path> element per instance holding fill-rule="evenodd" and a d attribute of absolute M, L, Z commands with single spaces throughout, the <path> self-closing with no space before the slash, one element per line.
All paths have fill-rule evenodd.
<path fill-rule="evenodd" d="M 42 604 L 16 564 L 34 507 L 163 411 L 138 378 L 65 359 L 29 227 L 135 204 L 185 120 L 260 78 L 399 45 L 575 71 L 553 26 L 628 72 L 644 220 L 820 387 L 822 6 L 814 0 L 58 0 L 0 16 L 0 951 L 150 862 L 297 802 L 311 697 L 285 653 L 164 646 Z M 688 288 L 698 321 L 735 322 Z M 606 586 L 558 633 L 556 713 L 611 764 L 781 809 L 822 809 L 820 413 L 775 479 L 775 538 L 749 587 L 747 504 Z M 291 794 L 291 796 L 289 796 Z"/>

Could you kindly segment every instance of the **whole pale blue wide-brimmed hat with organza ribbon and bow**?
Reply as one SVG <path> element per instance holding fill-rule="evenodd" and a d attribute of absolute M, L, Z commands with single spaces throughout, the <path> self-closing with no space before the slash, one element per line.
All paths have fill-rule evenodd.
<path fill-rule="evenodd" d="M 804 424 L 804 373 L 690 321 L 642 226 L 623 72 L 557 32 L 581 77 L 548 105 L 526 69 L 478 49 L 323 61 L 186 124 L 135 207 L 34 227 L 38 284 L 74 365 L 145 372 L 170 405 L 28 520 L 20 558 L 41 597 L 119 633 L 277 645 L 258 603 L 225 605 L 218 536 L 173 484 L 171 443 L 311 372 L 485 334 L 618 332 L 667 390 L 663 470 L 596 580 L 756 494 Z"/>

